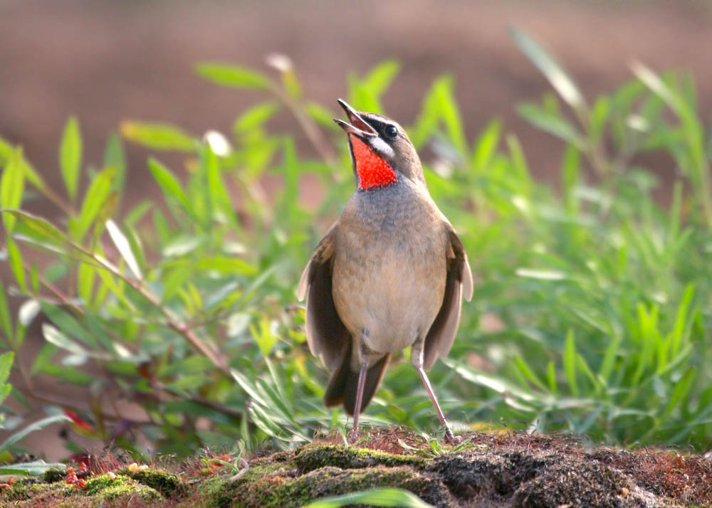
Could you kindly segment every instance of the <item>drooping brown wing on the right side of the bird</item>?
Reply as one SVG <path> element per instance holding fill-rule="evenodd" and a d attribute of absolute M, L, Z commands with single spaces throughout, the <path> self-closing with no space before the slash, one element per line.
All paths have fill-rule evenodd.
<path fill-rule="evenodd" d="M 423 366 L 430 369 L 439 356 L 450 352 L 460 322 L 462 297 L 472 299 L 472 272 L 462 242 L 450 224 L 447 224 L 450 248 L 448 249 L 445 295 L 435 321 L 431 325 L 423 351 Z"/>

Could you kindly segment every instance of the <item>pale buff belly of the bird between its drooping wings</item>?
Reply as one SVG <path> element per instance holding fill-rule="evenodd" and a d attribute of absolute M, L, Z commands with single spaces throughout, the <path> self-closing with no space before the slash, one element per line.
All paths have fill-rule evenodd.
<path fill-rule="evenodd" d="M 434 244 L 410 253 L 381 243 L 361 247 L 335 258 L 333 297 L 352 337 L 377 359 L 427 334 L 442 303 L 446 259 Z"/>

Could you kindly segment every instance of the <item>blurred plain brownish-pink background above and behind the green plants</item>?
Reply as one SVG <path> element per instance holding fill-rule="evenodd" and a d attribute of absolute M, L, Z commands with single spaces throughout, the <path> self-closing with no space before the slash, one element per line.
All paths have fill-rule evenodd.
<path fill-rule="evenodd" d="M 80 121 L 85 163 L 101 166 L 105 141 L 122 120 L 171 122 L 201 137 L 208 129 L 229 132 L 236 115 L 263 96 L 199 78 L 194 65 L 200 61 L 275 74 L 266 55 L 288 55 L 305 96 L 336 116 L 335 100 L 347 94 L 345 76 L 394 58 L 402 68 L 382 97 L 387 115 L 412 124 L 432 80 L 451 73 L 468 139 L 501 118 L 520 139 L 531 173 L 557 186 L 562 143 L 515 111 L 551 88 L 516 48 L 511 25 L 556 55 L 587 97 L 631 79 L 635 59 L 653 70 L 689 70 L 699 115 L 705 122 L 712 117 L 708 1 L 0 0 L 0 136 L 21 145 L 48 184 L 61 189 L 58 142 L 69 115 Z M 271 127 L 295 132 L 300 154 L 313 156 L 291 117 L 276 117 Z M 146 169 L 147 151 L 126 144 L 126 152 L 129 207 L 159 189 Z M 179 160 L 171 157 L 162 160 Z M 672 159 L 639 157 L 661 176 L 659 200 L 669 201 Z M 80 188 L 86 184 L 80 181 Z M 312 206 L 323 196 L 315 181 L 300 191 Z M 26 207 L 48 218 L 58 213 L 43 199 Z M 9 268 L 0 270 L 8 287 Z M 11 308 L 18 303 L 11 299 Z M 34 326 L 28 343 L 41 340 Z M 43 389 L 51 391 L 51 383 Z M 65 456 L 56 429 L 30 435 L 23 447 L 50 459 Z"/>

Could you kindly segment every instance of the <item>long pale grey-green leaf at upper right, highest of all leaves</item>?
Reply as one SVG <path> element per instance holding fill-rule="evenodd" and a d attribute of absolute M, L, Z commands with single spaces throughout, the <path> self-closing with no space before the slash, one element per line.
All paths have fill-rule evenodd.
<path fill-rule="evenodd" d="M 546 76 L 561 98 L 576 112 L 584 114 L 586 101 L 582 93 L 553 56 L 519 28 L 512 26 L 509 28 L 509 33 L 520 51 Z"/>

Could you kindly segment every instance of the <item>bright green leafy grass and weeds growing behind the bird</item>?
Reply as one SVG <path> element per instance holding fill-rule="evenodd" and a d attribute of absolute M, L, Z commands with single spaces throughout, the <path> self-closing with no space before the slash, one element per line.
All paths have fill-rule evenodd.
<path fill-rule="evenodd" d="M 538 43 L 514 38 L 556 77 L 554 93 L 518 108 L 562 140 L 556 189 L 533 179 L 501 122 L 466 134 L 448 75 L 434 80 L 407 126 L 476 273 L 459 336 L 431 375 L 444 411 L 461 429 L 496 422 L 708 449 L 712 144 L 693 81 L 634 65 L 633 80 L 590 99 Z M 382 112 L 398 70 L 387 61 L 350 78 L 347 100 Z M 304 97 L 292 68 L 272 76 L 206 64 L 197 72 L 261 90 L 265 100 L 240 112 L 227 136 L 123 122 L 124 139 L 155 151 L 147 167 L 160 193 L 132 208 L 119 137 L 108 140 L 102 164 L 83 165 L 80 125 L 70 120 L 58 161 L 66 189 L 51 189 L 31 154 L 0 139 L 0 259 L 14 276 L 0 287 L 0 345 L 31 356 L 14 364 L 22 379 L 85 386 L 86 406 L 46 405 L 143 462 L 136 443 L 145 440 L 179 457 L 238 440 L 248 450 L 294 449 L 322 425 L 347 423 L 321 404 L 328 373 L 305 344 L 294 292 L 310 246 L 353 190 L 335 112 Z M 274 132 L 277 115 L 296 117 L 313 150 L 298 148 L 292 132 Z M 181 154 L 182 164 L 169 167 L 164 152 Z M 670 188 L 639 162 L 650 153 L 670 161 Z M 300 201 L 305 178 L 325 193 L 315 210 Z M 269 197 L 267 179 L 282 184 Z M 26 211 L 38 195 L 56 204 L 56 220 Z M 51 263 L 34 264 L 32 248 L 48 251 Z M 5 295 L 22 300 L 20 318 Z M 46 344 L 23 348 L 39 312 Z M 127 422 L 110 409 L 126 401 L 144 416 Z M 408 362 L 387 372 L 364 421 L 436 432 Z"/>

